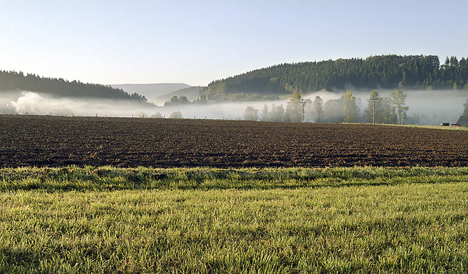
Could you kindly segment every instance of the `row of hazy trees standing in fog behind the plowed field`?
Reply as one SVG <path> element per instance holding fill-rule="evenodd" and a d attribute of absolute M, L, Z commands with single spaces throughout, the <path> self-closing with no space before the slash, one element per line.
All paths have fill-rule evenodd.
<path fill-rule="evenodd" d="M 408 117 L 405 106 L 406 94 L 403 90 L 394 90 L 390 97 L 381 97 L 377 90 L 372 90 L 368 104 L 360 111 L 356 104 L 356 97 L 351 90 L 347 90 L 337 100 L 323 102 L 320 96 L 312 101 L 304 100 L 297 92 L 292 93 L 286 107 L 282 104 L 266 104 L 259 110 L 247 106 L 244 112 L 245 120 L 277 121 L 277 122 L 315 122 L 315 123 L 379 123 L 379 124 L 404 124 L 408 121 L 418 123 L 417 117 Z M 468 104 L 468 101 L 467 101 Z"/>

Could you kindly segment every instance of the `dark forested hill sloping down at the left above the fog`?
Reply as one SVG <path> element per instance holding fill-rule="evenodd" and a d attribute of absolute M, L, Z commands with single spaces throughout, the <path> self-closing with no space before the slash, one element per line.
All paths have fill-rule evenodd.
<path fill-rule="evenodd" d="M 10 90 L 27 90 L 48 93 L 58 97 L 91 97 L 104 99 L 124 99 L 146 102 L 144 96 L 129 94 L 122 89 L 106 85 L 66 81 L 62 78 L 43 78 L 35 74 L 23 74 L 15 71 L 0 71 L 0 93 Z"/>

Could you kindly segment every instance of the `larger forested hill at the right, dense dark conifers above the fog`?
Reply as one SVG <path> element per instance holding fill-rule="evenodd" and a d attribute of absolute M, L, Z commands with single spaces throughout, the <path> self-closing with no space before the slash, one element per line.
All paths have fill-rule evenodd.
<path fill-rule="evenodd" d="M 287 94 L 293 90 L 349 88 L 468 88 L 468 60 L 447 58 L 441 65 L 434 55 L 378 55 L 366 59 L 278 64 L 210 83 L 206 94 Z"/>

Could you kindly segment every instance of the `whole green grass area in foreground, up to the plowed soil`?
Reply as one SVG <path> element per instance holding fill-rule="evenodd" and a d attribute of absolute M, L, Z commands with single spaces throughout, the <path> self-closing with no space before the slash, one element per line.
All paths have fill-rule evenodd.
<path fill-rule="evenodd" d="M 468 272 L 468 167 L 0 176 L 0 273 Z"/>

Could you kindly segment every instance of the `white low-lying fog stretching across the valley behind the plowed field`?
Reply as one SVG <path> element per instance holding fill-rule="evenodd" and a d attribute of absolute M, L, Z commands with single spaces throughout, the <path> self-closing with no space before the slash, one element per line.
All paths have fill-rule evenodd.
<path fill-rule="evenodd" d="M 380 97 L 389 97 L 390 90 L 378 90 Z M 304 95 L 304 99 L 314 100 L 319 95 L 323 103 L 337 100 L 342 93 L 320 91 Z M 417 116 L 422 125 L 440 125 L 442 122 L 456 123 L 467 102 L 468 90 L 403 90 L 406 106 L 409 107 L 408 116 Z M 57 98 L 47 94 L 28 91 L 2 92 L 0 98 L 0 112 L 3 114 L 37 114 L 60 116 L 117 116 L 117 117 L 150 117 L 161 114 L 169 118 L 171 114 L 180 111 L 183 118 L 208 119 L 242 119 L 245 108 L 252 106 L 258 109 L 261 117 L 264 105 L 271 109 L 272 105 L 287 107 L 287 100 L 269 102 L 219 102 L 212 104 L 183 104 L 171 107 L 153 107 L 128 100 L 100 100 L 82 98 Z M 362 113 L 367 107 L 370 92 L 353 92 L 356 103 Z M 341 110 L 337 110 L 341 111 Z M 180 118 L 180 117 L 177 117 Z"/>

